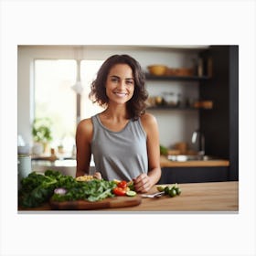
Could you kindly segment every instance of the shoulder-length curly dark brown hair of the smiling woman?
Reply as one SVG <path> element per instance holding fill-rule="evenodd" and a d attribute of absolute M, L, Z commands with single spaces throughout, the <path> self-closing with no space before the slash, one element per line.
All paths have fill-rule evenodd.
<path fill-rule="evenodd" d="M 106 81 L 110 70 L 116 64 L 127 64 L 133 70 L 134 92 L 133 97 L 126 103 L 129 118 L 137 120 L 145 112 L 146 99 L 148 92 L 145 89 L 144 71 L 136 59 L 129 55 L 113 55 L 106 59 L 97 73 L 97 77 L 91 83 L 89 94 L 93 103 L 97 102 L 100 106 L 108 106 L 109 99 L 106 95 Z"/>

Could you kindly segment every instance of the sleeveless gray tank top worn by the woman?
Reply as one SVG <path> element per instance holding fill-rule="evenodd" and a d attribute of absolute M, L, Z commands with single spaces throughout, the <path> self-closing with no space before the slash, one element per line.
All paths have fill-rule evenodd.
<path fill-rule="evenodd" d="M 130 120 L 120 132 L 106 128 L 98 114 L 91 120 L 91 153 L 95 169 L 103 179 L 130 181 L 148 172 L 146 133 L 140 119 Z"/>

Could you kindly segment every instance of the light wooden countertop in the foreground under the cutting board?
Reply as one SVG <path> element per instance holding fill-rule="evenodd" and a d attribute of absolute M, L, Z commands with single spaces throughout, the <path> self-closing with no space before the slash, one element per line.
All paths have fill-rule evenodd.
<path fill-rule="evenodd" d="M 238 211 L 239 210 L 239 182 L 211 182 L 179 184 L 182 193 L 176 197 L 142 198 L 142 203 L 129 208 L 107 208 L 101 211 Z M 150 193 L 154 193 L 153 187 Z M 150 194 L 149 193 L 149 194 Z M 51 210 L 48 204 L 40 208 L 21 209 L 19 212 L 27 213 L 28 210 Z M 98 211 L 98 210 L 97 210 Z M 59 211 L 63 212 L 63 211 Z M 64 211 L 67 212 L 67 211 Z M 88 212 L 88 211 L 87 211 Z M 90 211 L 91 212 L 91 211 Z"/>

